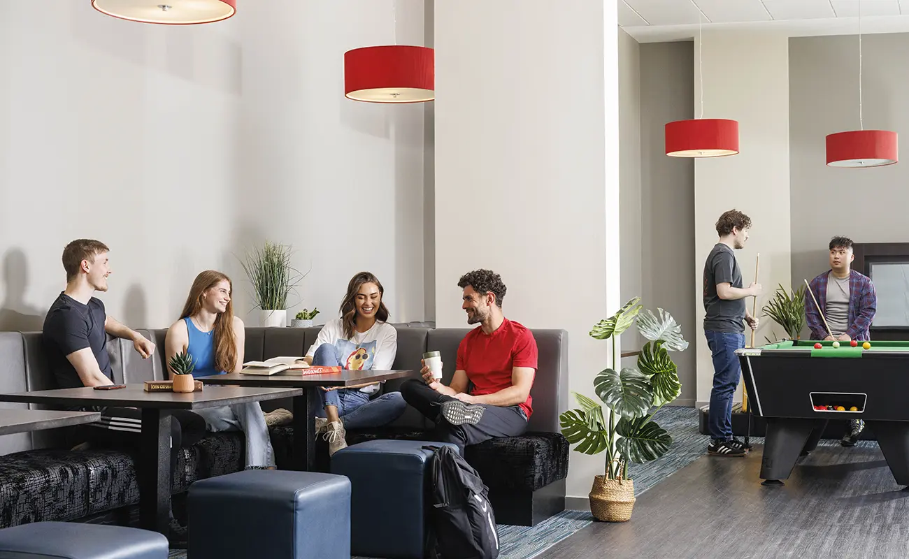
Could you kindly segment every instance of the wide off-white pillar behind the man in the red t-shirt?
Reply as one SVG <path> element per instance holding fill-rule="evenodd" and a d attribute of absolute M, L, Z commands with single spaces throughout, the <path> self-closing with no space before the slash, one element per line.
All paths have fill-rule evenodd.
<path fill-rule="evenodd" d="M 591 396 L 608 344 L 587 333 L 619 306 L 618 37 L 605 4 L 435 5 L 437 325 L 465 326 L 458 277 L 492 268 L 506 316 L 568 331 L 570 388 Z M 603 462 L 572 451 L 568 494 L 585 498 Z"/>

